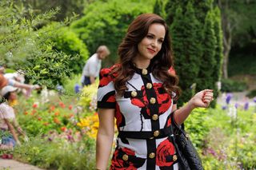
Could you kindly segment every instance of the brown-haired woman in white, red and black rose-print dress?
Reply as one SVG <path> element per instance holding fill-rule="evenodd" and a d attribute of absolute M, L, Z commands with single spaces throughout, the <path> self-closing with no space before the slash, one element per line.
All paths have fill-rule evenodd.
<path fill-rule="evenodd" d="M 110 169 L 178 169 L 170 139 L 170 114 L 177 109 L 178 77 L 173 66 L 166 22 L 142 14 L 132 22 L 118 47 L 119 64 L 102 69 L 98 88 L 99 128 L 96 168 L 106 169 L 118 127 Z M 208 107 L 210 89 L 197 93 L 174 120 L 181 125 L 196 107 Z"/>

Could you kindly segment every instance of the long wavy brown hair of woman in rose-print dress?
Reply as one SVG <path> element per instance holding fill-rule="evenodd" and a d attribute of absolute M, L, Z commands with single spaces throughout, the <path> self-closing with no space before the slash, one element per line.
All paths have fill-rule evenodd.
<path fill-rule="evenodd" d="M 150 61 L 150 67 L 154 77 L 163 82 L 163 87 L 167 93 L 174 92 L 179 95 L 178 77 L 168 70 L 174 65 L 173 52 L 171 49 L 170 35 L 166 22 L 157 14 L 141 14 L 131 22 L 126 32 L 125 38 L 118 47 L 119 63 L 112 74 L 114 78 L 114 88 L 118 95 L 122 95 L 127 89 L 126 81 L 134 75 L 133 59 L 138 53 L 138 43 L 146 37 L 150 25 L 154 23 L 162 24 L 166 29 L 166 35 L 162 42 L 162 49 Z"/>

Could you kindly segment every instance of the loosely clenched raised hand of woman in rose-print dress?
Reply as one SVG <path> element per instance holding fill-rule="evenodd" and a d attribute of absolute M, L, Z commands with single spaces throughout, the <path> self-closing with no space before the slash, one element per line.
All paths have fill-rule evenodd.
<path fill-rule="evenodd" d="M 212 89 L 204 89 L 201 92 L 198 92 L 192 97 L 189 101 L 189 105 L 192 108 L 207 108 L 210 105 L 211 101 L 214 101 L 214 90 Z"/>

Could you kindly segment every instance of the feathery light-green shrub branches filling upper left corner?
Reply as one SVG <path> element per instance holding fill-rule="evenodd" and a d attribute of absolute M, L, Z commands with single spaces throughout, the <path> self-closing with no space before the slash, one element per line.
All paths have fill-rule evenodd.
<path fill-rule="evenodd" d="M 0 2 L 0 64 L 6 63 L 11 69 L 26 70 L 26 77 L 38 84 L 53 86 L 70 73 L 68 68 L 72 58 L 58 53 L 47 43 L 58 30 L 39 33 L 37 26 L 58 13 L 50 10 L 45 14 L 34 14 L 33 10 L 9 1 Z M 57 27 L 63 26 L 58 23 Z"/>

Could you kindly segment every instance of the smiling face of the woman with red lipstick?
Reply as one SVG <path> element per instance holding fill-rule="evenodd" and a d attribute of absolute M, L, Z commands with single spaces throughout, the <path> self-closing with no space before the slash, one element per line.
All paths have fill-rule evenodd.
<path fill-rule="evenodd" d="M 165 36 L 166 29 L 162 24 L 150 25 L 148 34 L 142 39 L 142 42 L 138 43 L 137 59 L 150 61 L 162 48 Z"/>

